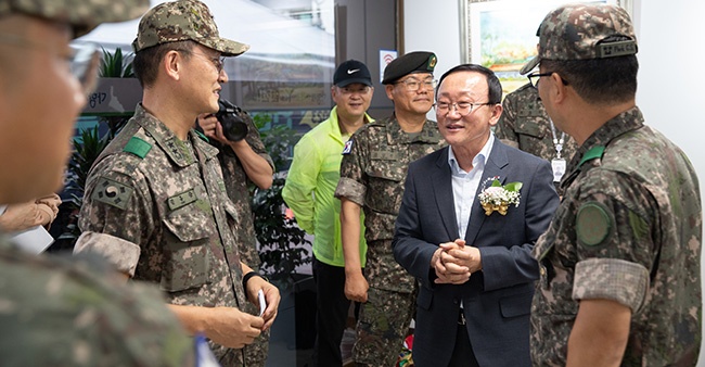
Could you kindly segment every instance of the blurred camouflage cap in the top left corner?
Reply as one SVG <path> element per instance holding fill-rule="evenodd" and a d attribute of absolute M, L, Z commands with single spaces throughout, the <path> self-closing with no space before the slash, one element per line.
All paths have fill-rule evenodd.
<path fill-rule="evenodd" d="M 26 14 L 74 28 L 80 37 L 101 23 L 133 20 L 150 8 L 150 0 L 0 0 L 0 17 Z"/>

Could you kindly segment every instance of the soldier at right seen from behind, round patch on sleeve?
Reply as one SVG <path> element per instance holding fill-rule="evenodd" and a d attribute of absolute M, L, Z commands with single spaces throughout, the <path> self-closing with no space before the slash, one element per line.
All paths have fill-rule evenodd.
<path fill-rule="evenodd" d="M 636 105 L 637 41 L 615 5 L 566 5 L 539 27 L 538 90 L 580 145 L 534 249 L 535 365 L 695 366 L 702 206 L 685 154 Z"/>

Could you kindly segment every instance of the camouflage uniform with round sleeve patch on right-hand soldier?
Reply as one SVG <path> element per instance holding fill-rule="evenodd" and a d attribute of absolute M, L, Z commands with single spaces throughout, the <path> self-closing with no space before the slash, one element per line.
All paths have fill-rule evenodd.
<path fill-rule="evenodd" d="M 534 364 L 565 366 L 578 301 L 607 299 L 632 312 L 623 365 L 694 366 L 703 222 L 688 157 L 633 107 L 580 147 L 566 176 L 563 202 L 534 249 L 541 264 Z"/>

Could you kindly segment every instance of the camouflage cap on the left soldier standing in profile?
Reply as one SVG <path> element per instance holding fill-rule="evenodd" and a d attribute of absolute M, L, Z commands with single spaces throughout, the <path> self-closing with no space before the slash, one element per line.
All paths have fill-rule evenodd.
<path fill-rule="evenodd" d="M 236 56 L 249 49 L 248 45 L 220 38 L 210 10 L 197 0 L 170 1 L 152 8 L 140 21 L 132 49 L 139 52 L 184 40 L 220 51 L 223 56 Z"/>

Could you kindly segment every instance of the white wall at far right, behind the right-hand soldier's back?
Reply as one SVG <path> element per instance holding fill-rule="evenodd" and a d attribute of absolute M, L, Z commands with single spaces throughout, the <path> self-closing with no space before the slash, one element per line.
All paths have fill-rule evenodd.
<path fill-rule="evenodd" d="M 642 0 L 634 5 L 639 20 L 639 89 L 637 104 L 646 123 L 688 154 L 705 190 L 705 60 L 702 14 L 705 2 Z M 702 201 L 702 200 L 701 200 Z M 705 265 L 701 274 L 705 270 Z M 703 277 L 705 279 L 705 277 Z M 705 366 L 701 347 L 697 366 Z"/>

